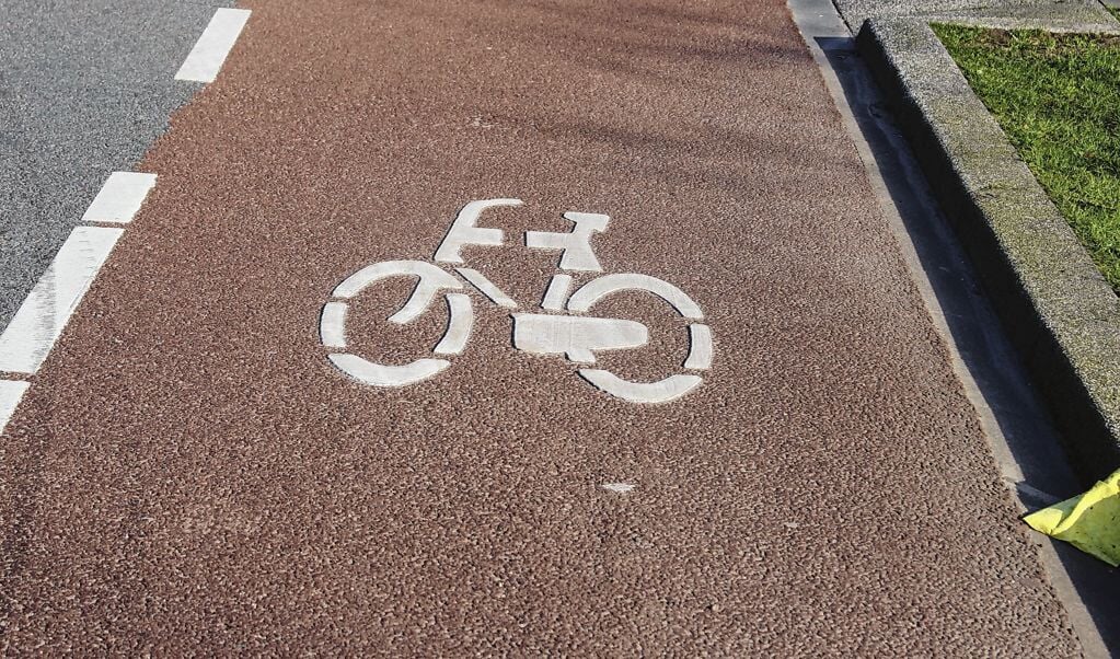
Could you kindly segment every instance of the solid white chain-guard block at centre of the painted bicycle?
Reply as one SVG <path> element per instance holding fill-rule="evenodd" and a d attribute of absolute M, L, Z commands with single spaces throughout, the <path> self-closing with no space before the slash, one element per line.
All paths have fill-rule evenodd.
<path fill-rule="evenodd" d="M 513 346 L 531 354 L 563 354 L 576 363 L 594 364 L 597 351 L 648 342 L 650 331 L 634 321 L 513 314 Z"/>

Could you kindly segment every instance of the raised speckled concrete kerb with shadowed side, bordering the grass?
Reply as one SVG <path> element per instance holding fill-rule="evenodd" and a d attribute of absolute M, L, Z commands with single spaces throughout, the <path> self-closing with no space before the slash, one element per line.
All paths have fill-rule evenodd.
<path fill-rule="evenodd" d="M 857 47 L 1086 483 L 1120 467 L 1120 297 L 923 19 Z"/>

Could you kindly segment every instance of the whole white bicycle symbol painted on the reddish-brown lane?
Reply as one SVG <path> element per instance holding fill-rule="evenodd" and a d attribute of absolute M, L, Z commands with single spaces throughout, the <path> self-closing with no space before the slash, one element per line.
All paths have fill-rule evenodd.
<path fill-rule="evenodd" d="M 436 250 L 437 263 L 458 266 L 464 262 L 460 250 L 465 245 L 501 247 L 503 231 L 478 226 L 482 213 L 495 206 L 521 206 L 521 199 L 483 199 L 470 202 L 459 212 L 450 230 Z M 575 224 L 570 233 L 526 231 L 525 245 L 530 249 L 559 250 L 560 269 L 575 272 L 601 272 L 603 268 L 591 248 L 591 236 L 606 231 L 610 219 L 597 213 L 568 212 L 563 217 Z M 474 307 L 470 297 L 463 293 L 464 280 L 500 307 L 516 309 L 517 303 L 505 295 L 482 272 L 454 267 L 455 275 L 427 261 L 382 261 L 362 268 L 335 287 L 330 301 L 323 307 L 319 335 L 327 355 L 340 371 L 372 387 L 407 387 L 436 377 L 447 370 L 449 358 L 461 354 L 470 338 Z M 458 275 L 458 277 L 456 276 Z M 414 360 L 403 365 L 383 364 L 366 360 L 346 350 L 347 300 L 366 287 L 390 277 L 412 277 L 416 288 L 404 306 L 389 317 L 404 325 L 419 318 L 431 307 L 437 296 L 444 294 L 448 309 L 447 330 L 432 349 L 432 356 Z M 461 279 L 460 279 L 461 278 Z M 689 324 L 689 354 L 682 364 L 685 371 L 706 371 L 712 362 L 712 336 L 703 321 L 699 305 L 680 288 L 651 277 L 633 272 L 609 273 L 596 277 L 569 295 L 572 276 L 558 272 L 545 288 L 541 309 L 545 313 L 513 313 L 513 347 L 540 355 L 562 355 L 580 365 L 596 363 L 595 353 L 610 350 L 637 349 L 648 343 L 648 328 L 634 321 L 601 318 L 584 315 L 599 300 L 615 293 L 638 290 L 653 294 L 668 303 Z M 598 389 L 631 402 L 656 403 L 676 400 L 703 381 L 694 372 L 676 373 L 655 382 L 635 382 L 615 373 L 594 368 L 580 368 L 578 373 Z"/>

